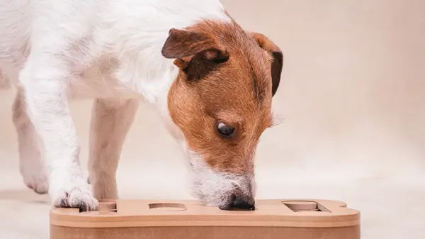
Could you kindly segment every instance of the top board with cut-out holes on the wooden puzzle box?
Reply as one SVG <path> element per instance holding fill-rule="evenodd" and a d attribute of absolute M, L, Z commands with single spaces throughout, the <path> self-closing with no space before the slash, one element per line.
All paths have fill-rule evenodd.
<path fill-rule="evenodd" d="M 50 225 L 76 228 L 265 226 L 336 228 L 360 225 L 360 212 L 342 201 L 257 200 L 254 211 L 222 211 L 198 201 L 101 201 L 99 211 L 52 209 Z"/>

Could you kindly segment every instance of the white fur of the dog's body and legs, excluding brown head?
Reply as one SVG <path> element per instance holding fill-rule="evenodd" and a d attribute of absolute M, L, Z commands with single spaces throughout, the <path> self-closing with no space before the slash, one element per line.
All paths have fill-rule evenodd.
<path fill-rule="evenodd" d="M 217 0 L 0 1 L 0 72 L 23 90 L 17 102 L 27 106 L 26 111 L 16 108 L 14 118 L 26 184 L 43 192 L 48 174 L 55 206 L 91 210 L 98 205 L 81 172 L 79 139 L 68 108 L 71 99 L 108 99 L 96 101 L 91 126 L 90 177 L 100 198 L 117 196 L 115 169 L 137 109 L 135 101 L 126 99 L 156 106 L 171 133 L 183 140 L 166 107 L 178 70 L 161 49 L 171 28 L 203 18 L 229 21 Z M 212 196 L 218 189 L 208 187 L 239 182 L 204 169 L 199 174 L 209 182 L 198 190 L 212 202 L 219 200 Z"/>

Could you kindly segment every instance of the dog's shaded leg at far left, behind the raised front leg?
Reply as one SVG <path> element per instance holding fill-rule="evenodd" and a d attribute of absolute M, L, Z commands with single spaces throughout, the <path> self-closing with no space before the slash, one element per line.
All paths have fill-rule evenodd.
<path fill-rule="evenodd" d="M 47 167 L 40 156 L 37 133 L 26 113 L 22 89 L 18 89 L 13 103 L 13 124 L 18 134 L 19 166 L 23 182 L 38 194 L 47 194 Z"/>

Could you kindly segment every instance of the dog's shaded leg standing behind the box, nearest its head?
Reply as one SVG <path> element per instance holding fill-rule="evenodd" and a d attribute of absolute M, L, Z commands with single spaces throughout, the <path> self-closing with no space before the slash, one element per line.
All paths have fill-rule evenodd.
<path fill-rule="evenodd" d="M 118 199 L 115 172 L 137 111 L 135 99 L 96 99 L 91 118 L 89 181 L 96 199 Z"/>

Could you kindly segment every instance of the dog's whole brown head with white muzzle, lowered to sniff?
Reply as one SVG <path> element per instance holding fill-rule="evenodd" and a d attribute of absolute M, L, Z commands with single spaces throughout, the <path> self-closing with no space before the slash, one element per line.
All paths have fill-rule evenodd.
<path fill-rule="evenodd" d="M 273 123 L 282 52 L 234 22 L 205 21 L 171 29 L 162 55 L 179 67 L 168 109 L 185 137 L 196 196 L 220 209 L 252 209 L 254 155 Z"/>

